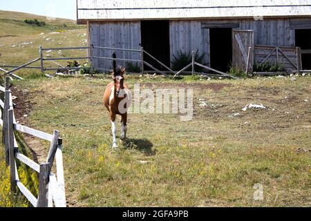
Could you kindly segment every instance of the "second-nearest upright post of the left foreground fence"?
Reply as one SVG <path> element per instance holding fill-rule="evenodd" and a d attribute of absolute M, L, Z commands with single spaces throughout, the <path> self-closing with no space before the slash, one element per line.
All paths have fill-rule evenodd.
<path fill-rule="evenodd" d="M 15 174 L 15 148 L 14 148 L 14 126 L 13 126 L 13 109 L 8 110 L 8 144 L 10 158 L 10 180 L 11 190 L 16 191 L 16 174 Z"/>

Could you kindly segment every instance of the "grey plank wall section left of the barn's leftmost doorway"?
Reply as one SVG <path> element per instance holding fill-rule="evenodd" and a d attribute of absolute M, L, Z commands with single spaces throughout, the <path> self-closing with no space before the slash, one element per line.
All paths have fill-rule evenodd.
<path fill-rule="evenodd" d="M 140 21 L 91 22 L 89 23 L 89 28 L 90 40 L 93 46 L 126 49 L 140 48 Z M 113 52 L 115 52 L 117 58 L 140 59 L 140 53 L 138 52 L 120 50 L 93 49 L 92 55 L 112 57 Z M 126 66 L 126 61 L 117 61 L 117 64 Z M 111 69 L 112 61 L 108 59 L 93 59 L 93 67 L 98 70 Z"/>

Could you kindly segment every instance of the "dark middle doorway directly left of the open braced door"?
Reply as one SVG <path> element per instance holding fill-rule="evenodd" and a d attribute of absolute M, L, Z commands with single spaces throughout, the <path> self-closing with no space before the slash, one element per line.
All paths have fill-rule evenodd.
<path fill-rule="evenodd" d="M 227 72 L 232 63 L 232 28 L 209 29 L 211 68 Z"/>

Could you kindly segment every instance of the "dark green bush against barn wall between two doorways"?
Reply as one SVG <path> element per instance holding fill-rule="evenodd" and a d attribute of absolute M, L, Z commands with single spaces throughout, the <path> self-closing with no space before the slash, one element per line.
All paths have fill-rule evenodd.
<path fill-rule="evenodd" d="M 196 53 L 194 55 L 194 61 L 203 64 L 204 62 L 205 53 L 202 55 L 199 55 L 198 50 L 196 50 Z M 177 56 L 173 55 L 173 61 L 171 61 L 172 69 L 173 70 L 182 70 L 182 68 L 185 68 L 188 64 L 192 62 L 192 55 L 191 52 L 182 52 L 182 50 L 179 50 L 177 52 Z M 203 64 L 205 65 L 205 64 Z M 201 72 L 203 68 L 200 68 L 198 66 L 195 66 L 195 70 L 197 72 Z M 186 71 L 191 71 L 191 67 L 187 68 Z"/>

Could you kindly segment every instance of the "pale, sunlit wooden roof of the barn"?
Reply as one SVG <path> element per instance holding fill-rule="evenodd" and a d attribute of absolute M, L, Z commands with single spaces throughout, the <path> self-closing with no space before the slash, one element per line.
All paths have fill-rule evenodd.
<path fill-rule="evenodd" d="M 311 0 L 77 0 L 77 21 L 311 17 Z"/>

